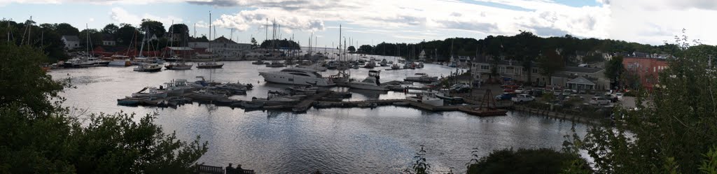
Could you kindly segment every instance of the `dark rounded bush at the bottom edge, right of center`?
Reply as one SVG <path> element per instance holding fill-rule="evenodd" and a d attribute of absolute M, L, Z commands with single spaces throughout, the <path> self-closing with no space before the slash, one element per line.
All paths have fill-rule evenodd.
<path fill-rule="evenodd" d="M 495 150 L 468 165 L 467 173 L 561 173 L 576 160 L 587 164 L 577 155 L 547 148 Z"/>

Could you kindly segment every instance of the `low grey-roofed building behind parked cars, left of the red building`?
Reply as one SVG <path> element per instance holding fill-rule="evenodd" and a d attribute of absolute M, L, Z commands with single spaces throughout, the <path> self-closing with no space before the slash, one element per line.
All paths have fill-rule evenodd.
<path fill-rule="evenodd" d="M 564 67 L 550 78 L 551 86 L 571 90 L 606 90 L 610 87 L 610 79 L 605 77 L 605 69 L 599 67 Z"/>

